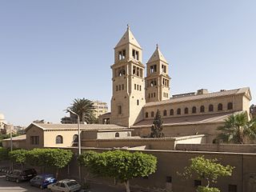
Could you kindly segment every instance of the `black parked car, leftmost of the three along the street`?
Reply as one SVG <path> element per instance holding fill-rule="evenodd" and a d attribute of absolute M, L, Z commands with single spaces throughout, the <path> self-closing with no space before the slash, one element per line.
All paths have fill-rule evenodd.
<path fill-rule="evenodd" d="M 29 181 L 35 175 L 37 175 L 37 172 L 34 169 L 14 170 L 10 174 L 6 174 L 6 181 Z"/>

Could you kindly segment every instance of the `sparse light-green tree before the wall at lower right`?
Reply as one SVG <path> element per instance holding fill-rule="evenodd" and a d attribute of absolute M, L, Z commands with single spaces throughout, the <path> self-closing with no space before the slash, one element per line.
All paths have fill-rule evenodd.
<path fill-rule="evenodd" d="M 218 163 L 216 158 L 207 159 L 204 156 L 191 158 L 191 165 L 186 166 L 182 176 L 185 178 L 191 178 L 193 174 L 196 174 L 198 179 L 205 179 L 207 182 L 206 186 L 198 186 L 198 192 L 219 192 L 218 188 L 210 187 L 214 182 L 217 182 L 219 177 L 231 176 L 233 166 L 227 165 L 222 166 Z"/>

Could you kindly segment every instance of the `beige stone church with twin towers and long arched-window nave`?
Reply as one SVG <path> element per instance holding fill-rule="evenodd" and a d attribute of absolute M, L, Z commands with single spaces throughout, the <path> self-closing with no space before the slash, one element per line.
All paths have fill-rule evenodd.
<path fill-rule="evenodd" d="M 142 63 L 142 47 L 130 27 L 114 47 L 112 70 L 111 113 L 102 115 L 101 122 L 134 129 L 134 134 L 150 134 L 157 110 L 168 137 L 189 134 L 217 134 L 216 127 L 234 113 L 250 114 L 250 89 L 206 89 L 170 97 L 169 64 L 158 45 L 146 62 Z M 146 73 L 145 73 L 146 71 Z M 144 77 L 146 74 L 146 77 Z M 104 119 L 105 118 L 105 119 Z M 212 141 L 210 141 L 212 142 Z"/>

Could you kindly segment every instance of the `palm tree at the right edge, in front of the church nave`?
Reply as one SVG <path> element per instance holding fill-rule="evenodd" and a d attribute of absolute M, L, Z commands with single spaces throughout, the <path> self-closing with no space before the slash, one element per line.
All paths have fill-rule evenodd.
<path fill-rule="evenodd" d="M 225 120 L 224 126 L 219 126 L 217 139 L 227 143 L 244 144 L 256 138 L 256 119 L 248 121 L 246 112 L 231 114 Z"/>

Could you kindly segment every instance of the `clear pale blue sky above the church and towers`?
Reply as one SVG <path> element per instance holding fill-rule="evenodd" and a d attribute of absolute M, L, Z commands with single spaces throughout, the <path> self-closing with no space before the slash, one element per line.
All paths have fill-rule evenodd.
<path fill-rule="evenodd" d="M 114 46 L 130 29 L 146 64 L 158 43 L 170 94 L 249 86 L 256 103 L 256 1 L 0 1 L 0 113 L 59 123 L 74 98 L 110 106 Z"/>

